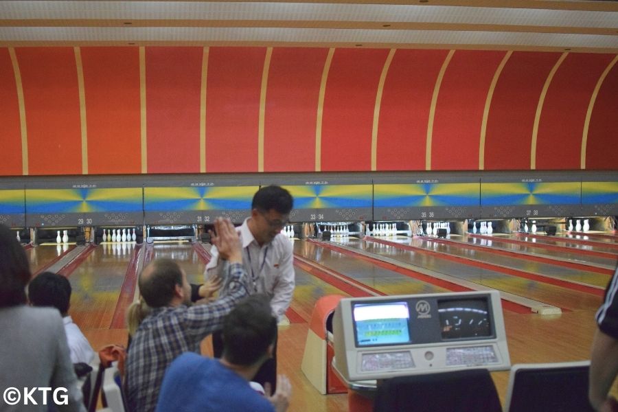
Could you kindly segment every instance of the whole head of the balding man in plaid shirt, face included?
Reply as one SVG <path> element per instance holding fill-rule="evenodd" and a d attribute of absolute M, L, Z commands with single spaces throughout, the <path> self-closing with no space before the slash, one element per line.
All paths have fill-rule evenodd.
<path fill-rule="evenodd" d="M 170 259 L 156 259 L 141 271 L 139 292 L 150 308 L 191 304 L 187 275 Z"/>

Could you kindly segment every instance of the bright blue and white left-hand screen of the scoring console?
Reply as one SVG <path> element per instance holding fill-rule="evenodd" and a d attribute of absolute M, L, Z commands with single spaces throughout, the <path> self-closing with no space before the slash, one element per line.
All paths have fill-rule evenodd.
<path fill-rule="evenodd" d="M 410 312 L 405 301 L 355 304 L 356 346 L 410 343 Z"/>

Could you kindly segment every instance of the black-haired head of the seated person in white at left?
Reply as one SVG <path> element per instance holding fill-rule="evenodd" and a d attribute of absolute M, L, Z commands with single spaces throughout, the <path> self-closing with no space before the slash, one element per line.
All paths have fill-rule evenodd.
<path fill-rule="evenodd" d="M 43 272 L 28 284 L 28 300 L 32 306 L 53 306 L 67 316 L 71 302 L 71 284 L 64 276 Z"/>

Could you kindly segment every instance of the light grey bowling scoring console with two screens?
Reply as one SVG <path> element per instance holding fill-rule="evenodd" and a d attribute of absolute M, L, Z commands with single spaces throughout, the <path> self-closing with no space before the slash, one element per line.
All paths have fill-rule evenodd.
<path fill-rule="evenodd" d="M 333 335 L 348 381 L 510 367 L 496 290 L 341 299 Z"/>

